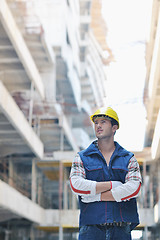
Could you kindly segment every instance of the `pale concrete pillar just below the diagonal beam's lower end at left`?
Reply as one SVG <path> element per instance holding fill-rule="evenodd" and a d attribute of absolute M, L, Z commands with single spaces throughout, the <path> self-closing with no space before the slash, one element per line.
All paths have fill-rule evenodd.
<path fill-rule="evenodd" d="M 37 195 L 37 171 L 36 171 L 36 161 L 32 160 L 32 201 L 36 202 Z"/>

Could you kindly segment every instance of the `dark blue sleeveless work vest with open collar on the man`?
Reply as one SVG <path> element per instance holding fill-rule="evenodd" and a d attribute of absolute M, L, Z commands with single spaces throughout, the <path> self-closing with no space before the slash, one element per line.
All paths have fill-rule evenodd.
<path fill-rule="evenodd" d="M 111 156 L 109 166 L 94 142 L 87 149 L 79 152 L 88 180 L 125 182 L 129 160 L 133 153 L 122 148 L 117 142 L 115 142 L 115 146 L 116 148 Z M 101 201 L 83 203 L 81 197 L 79 197 L 79 204 L 80 226 L 112 223 L 114 221 L 130 222 L 132 230 L 139 224 L 135 198 L 125 202 Z"/>

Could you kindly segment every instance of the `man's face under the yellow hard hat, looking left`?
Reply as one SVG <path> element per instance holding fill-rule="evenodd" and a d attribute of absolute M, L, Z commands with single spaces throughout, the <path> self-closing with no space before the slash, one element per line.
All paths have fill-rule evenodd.
<path fill-rule="evenodd" d="M 95 134 L 98 139 L 110 138 L 116 131 L 114 127 L 116 125 L 112 126 L 111 121 L 105 117 L 95 119 L 94 124 Z"/>

